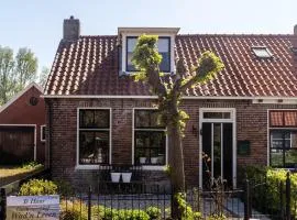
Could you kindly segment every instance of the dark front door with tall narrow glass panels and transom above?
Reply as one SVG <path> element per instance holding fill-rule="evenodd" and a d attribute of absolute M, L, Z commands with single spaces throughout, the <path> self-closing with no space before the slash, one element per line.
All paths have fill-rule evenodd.
<path fill-rule="evenodd" d="M 218 178 L 224 179 L 227 186 L 234 187 L 233 114 L 217 111 L 213 113 L 208 110 L 200 118 L 202 188 L 209 188 Z"/>

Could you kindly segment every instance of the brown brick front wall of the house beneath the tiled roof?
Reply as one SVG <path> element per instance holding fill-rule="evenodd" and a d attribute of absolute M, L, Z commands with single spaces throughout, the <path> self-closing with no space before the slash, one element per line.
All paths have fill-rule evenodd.
<path fill-rule="evenodd" d="M 94 170 L 76 170 L 77 108 L 105 107 L 112 109 L 112 163 L 130 164 L 132 158 L 132 109 L 152 107 L 150 100 L 135 99 L 51 99 L 52 114 L 52 174 L 74 184 L 92 183 Z M 183 100 L 189 114 L 184 156 L 186 182 L 198 185 L 199 174 L 199 108 L 235 108 L 237 140 L 251 141 L 251 155 L 238 156 L 238 165 L 267 163 L 267 109 L 290 109 L 289 105 L 254 105 L 249 100 Z M 48 111 L 48 106 L 46 107 Z M 48 121 L 47 121 L 48 122 Z M 197 132 L 193 132 L 193 128 Z M 50 143 L 50 142 L 47 142 Z M 164 179 L 165 174 L 163 174 Z M 148 175 L 150 180 L 153 175 Z M 158 172 L 158 180 L 162 173 Z M 154 180 L 154 179 L 151 179 Z"/>

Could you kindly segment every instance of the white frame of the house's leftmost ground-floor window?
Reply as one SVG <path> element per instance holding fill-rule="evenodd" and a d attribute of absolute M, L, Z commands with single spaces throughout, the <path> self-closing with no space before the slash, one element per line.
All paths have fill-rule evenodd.
<path fill-rule="evenodd" d="M 109 131 L 109 164 L 112 164 L 112 108 L 100 108 L 100 107 L 86 107 L 86 108 L 77 108 L 77 133 L 76 133 L 76 169 L 99 169 L 101 164 L 95 165 L 85 165 L 79 164 L 79 111 L 80 110 L 109 110 L 109 129 L 89 129 L 89 130 L 101 130 L 101 131 Z"/>

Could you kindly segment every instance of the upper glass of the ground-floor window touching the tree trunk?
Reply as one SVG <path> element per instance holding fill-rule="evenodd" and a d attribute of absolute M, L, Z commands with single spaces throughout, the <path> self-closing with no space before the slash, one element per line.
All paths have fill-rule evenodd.
<path fill-rule="evenodd" d="M 157 110 L 135 110 L 135 128 L 165 129 L 165 125 L 162 124 Z"/>

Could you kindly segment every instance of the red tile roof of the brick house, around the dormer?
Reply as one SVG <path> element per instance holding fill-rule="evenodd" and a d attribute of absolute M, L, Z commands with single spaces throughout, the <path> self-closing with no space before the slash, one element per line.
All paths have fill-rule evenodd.
<path fill-rule="evenodd" d="M 59 43 L 45 95 L 146 96 L 147 86 L 119 76 L 117 37 L 80 36 Z M 175 54 L 188 68 L 204 51 L 212 51 L 226 68 L 186 96 L 295 97 L 294 35 L 177 35 Z M 252 46 L 267 46 L 273 58 L 257 58 Z"/>

